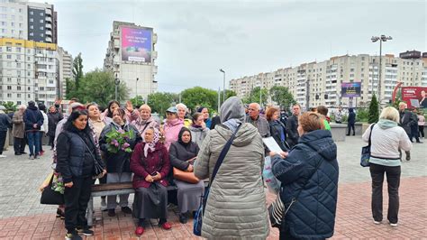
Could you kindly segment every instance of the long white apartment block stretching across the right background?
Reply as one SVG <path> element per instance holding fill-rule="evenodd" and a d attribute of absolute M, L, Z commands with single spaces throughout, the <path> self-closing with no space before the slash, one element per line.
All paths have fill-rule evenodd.
<path fill-rule="evenodd" d="M 375 92 L 378 97 L 379 57 L 368 54 L 332 57 L 322 62 L 309 62 L 294 68 L 236 78 L 230 88 L 239 97 L 250 94 L 252 88 L 289 88 L 295 101 L 304 109 L 313 106 L 366 106 Z M 382 58 L 380 98 L 383 105 L 392 97 L 397 82 L 403 86 L 427 86 L 426 58 Z M 341 97 L 342 82 L 361 82 L 361 96 Z"/>

